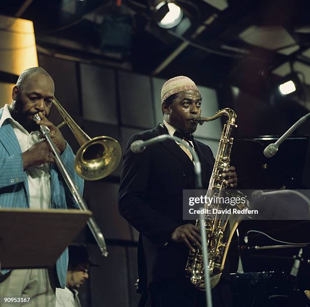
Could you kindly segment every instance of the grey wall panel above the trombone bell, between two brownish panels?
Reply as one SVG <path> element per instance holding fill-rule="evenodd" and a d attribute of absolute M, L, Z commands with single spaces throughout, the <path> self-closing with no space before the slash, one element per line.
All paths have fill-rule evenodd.
<path fill-rule="evenodd" d="M 114 70 L 80 64 L 80 73 L 84 119 L 118 125 Z"/>

